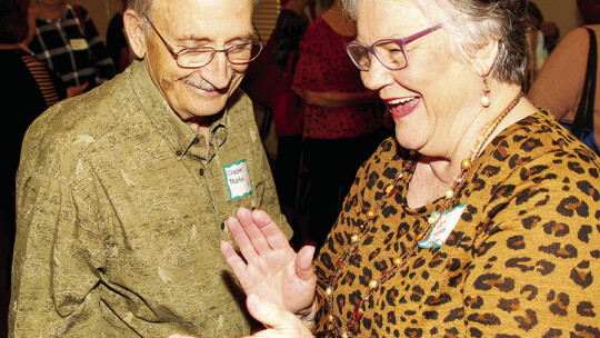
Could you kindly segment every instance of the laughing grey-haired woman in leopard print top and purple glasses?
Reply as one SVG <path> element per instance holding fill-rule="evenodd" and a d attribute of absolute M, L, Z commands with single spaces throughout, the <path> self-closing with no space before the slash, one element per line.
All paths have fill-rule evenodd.
<path fill-rule="evenodd" d="M 316 274 L 264 212 L 228 221 L 256 337 L 599 337 L 600 161 L 521 92 L 526 0 L 346 9 L 396 139 L 359 170 Z"/>

